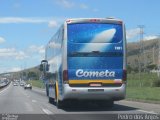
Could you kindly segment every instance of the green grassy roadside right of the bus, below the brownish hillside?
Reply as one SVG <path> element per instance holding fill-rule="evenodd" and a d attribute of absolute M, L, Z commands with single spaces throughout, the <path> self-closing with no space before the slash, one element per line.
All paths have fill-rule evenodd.
<path fill-rule="evenodd" d="M 155 73 L 128 74 L 127 96 L 128 100 L 160 101 L 160 87 L 154 87 L 157 80 Z M 160 102 L 159 102 L 160 103 Z"/>

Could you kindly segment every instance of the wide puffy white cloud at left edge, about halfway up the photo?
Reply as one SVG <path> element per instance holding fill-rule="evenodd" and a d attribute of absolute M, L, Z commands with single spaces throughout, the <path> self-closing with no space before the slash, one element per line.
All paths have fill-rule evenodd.
<path fill-rule="evenodd" d="M 1 48 L 0 57 L 23 60 L 25 58 L 28 58 L 29 56 L 27 56 L 23 51 L 17 51 L 15 48 Z"/>

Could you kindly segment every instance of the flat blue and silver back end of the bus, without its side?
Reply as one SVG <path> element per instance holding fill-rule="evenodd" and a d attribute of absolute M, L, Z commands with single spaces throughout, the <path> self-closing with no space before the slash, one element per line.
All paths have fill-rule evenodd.
<path fill-rule="evenodd" d="M 124 25 L 115 19 L 67 21 L 63 99 L 121 100 L 126 91 Z"/>

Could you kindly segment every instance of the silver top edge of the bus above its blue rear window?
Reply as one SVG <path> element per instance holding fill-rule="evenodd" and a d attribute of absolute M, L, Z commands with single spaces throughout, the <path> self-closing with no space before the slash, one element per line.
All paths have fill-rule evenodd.
<path fill-rule="evenodd" d="M 73 19 L 67 19 L 65 21 L 67 24 L 73 24 L 73 23 L 86 23 L 86 22 L 94 22 L 94 23 L 115 23 L 115 24 L 122 24 L 122 20 L 115 19 L 112 17 L 109 18 L 73 18 Z"/>

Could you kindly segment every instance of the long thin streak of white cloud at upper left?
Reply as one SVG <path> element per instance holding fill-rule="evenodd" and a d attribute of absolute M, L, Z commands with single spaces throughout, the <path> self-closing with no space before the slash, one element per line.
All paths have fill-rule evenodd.
<path fill-rule="evenodd" d="M 49 20 L 41 18 L 1 17 L 0 23 L 47 23 Z"/>

